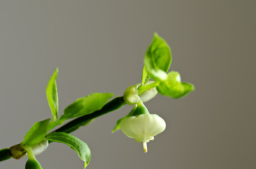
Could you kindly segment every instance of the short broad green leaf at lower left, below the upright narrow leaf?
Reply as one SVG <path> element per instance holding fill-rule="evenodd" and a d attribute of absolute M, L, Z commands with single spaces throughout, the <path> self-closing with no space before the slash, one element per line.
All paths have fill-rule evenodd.
<path fill-rule="evenodd" d="M 23 143 L 27 146 L 34 146 L 35 144 L 40 143 L 43 139 L 45 139 L 50 120 L 51 119 L 48 118 L 46 120 L 35 123 L 30 128 L 30 130 L 28 130 L 27 134 L 25 134 Z"/>

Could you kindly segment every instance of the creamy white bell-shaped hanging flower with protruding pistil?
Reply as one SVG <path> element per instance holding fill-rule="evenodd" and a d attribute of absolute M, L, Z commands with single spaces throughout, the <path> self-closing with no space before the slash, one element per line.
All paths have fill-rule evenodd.
<path fill-rule="evenodd" d="M 141 114 L 126 118 L 121 123 L 121 130 L 127 137 L 134 138 L 136 142 L 143 142 L 144 152 L 147 152 L 146 143 L 154 136 L 165 130 L 163 118 L 156 114 Z"/>

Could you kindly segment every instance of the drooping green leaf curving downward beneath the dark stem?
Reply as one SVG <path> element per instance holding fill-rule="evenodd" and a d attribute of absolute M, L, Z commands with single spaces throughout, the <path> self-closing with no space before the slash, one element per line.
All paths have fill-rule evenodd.
<path fill-rule="evenodd" d="M 76 151 L 78 157 L 85 162 L 84 168 L 86 168 L 86 166 L 90 162 L 91 151 L 88 145 L 81 139 L 78 139 L 77 137 L 74 137 L 73 135 L 67 134 L 65 132 L 52 132 L 50 134 L 47 134 L 45 139 L 51 142 L 60 142 L 70 146 L 71 149 L 74 149 L 74 151 Z"/>

